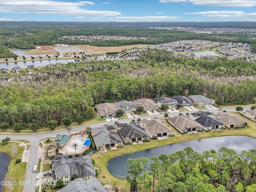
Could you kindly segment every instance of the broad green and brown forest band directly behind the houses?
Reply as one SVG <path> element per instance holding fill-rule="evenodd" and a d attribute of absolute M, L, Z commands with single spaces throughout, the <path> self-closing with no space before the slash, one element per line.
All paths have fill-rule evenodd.
<path fill-rule="evenodd" d="M 47 127 L 93 117 L 95 104 L 136 98 L 202 94 L 219 105 L 252 104 L 256 64 L 224 57 L 190 58 L 165 50 L 140 51 L 135 60 L 92 60 L 46 66 L 28 74 L 1 72 L 2 129 Z M 47 74 L 47 76 L 44 76 Z M 6 78 L 12 81 L 5 82 Z"/>

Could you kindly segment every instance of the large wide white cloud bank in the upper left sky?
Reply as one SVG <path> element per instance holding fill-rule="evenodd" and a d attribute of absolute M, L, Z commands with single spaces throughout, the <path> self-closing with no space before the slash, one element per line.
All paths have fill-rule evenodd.
<path fill-rule="evenodd" d="M 62 2 L 54 0 L 1 0 L 0 13 L 56 14 L 72 16 L 116 16 L 118 11 L 98 11 L 80 8 L 93 2 Z"/>

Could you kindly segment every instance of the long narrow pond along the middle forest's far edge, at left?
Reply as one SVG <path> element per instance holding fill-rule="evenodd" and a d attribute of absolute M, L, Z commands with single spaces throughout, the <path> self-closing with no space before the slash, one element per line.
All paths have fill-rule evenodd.
<path fill-rule="evenodd" d="M 0 63 L 0 69 L 2 68 L 14 68 L 19 66 L 20 68 L 27 68 L 28 65 L 34 65 L 34 67 L 38 66 L 46 66 L 49 64 L 56 64 L 56 63 L 64 63 L 68 64 L 71 62 L 75 62 L 74 59 L 50 59 L 50 60 L 35 60 L 35 61 L 21 61 L 21 62 L 5 62 Z"/>

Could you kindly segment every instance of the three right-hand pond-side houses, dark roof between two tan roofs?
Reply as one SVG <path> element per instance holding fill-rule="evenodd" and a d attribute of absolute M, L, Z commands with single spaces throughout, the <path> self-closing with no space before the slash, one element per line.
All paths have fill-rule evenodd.
<path fill-rule="evenodd" d="M 189 116 L 170 116 L 168 123 L 181 133 L 197 132 L 201 130 L 218 130 L 224 128 L 243 127 L 247 121 L 229 113 L 217 112 L 212 114 L 208 111 L 190 113 Z"/>

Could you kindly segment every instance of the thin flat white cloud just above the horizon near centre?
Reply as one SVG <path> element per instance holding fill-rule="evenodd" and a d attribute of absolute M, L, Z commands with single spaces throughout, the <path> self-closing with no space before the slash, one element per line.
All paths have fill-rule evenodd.
<path fill-rule="evenodd" d="M 177 16 L 141 16 L 141 17 L 115 17 L 110 18 L 112 21 L 116 22 L 147 22 L 147 21 L 162 21 L 177 19 Z"/>

